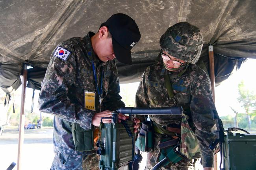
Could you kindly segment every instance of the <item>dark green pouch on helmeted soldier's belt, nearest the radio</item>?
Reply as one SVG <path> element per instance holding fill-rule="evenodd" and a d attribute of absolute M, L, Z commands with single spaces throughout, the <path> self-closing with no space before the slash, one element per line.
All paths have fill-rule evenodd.
<path fill-rule="evenodd" d="M 151 152 L 153 151 L 153 131 L 152 123 L 150 121 L 144 121 L 139 129 L 139 135 L 135 142 L 135 146 L 141 152 Z"/>

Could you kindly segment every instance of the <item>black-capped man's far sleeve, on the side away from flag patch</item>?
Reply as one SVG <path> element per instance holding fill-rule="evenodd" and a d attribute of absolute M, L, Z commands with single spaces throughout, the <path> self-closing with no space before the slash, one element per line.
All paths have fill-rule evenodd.
<path fill-rule="evenodd" d="M 117 73 L 117 67 L 114 64 L 109 76 L 109 86 L 106 100 L 103 102 L 104 110 L 115 111 L 118 108 L 124 107 L 124 102 L 121 101 L 122 97 L 119 95 L 120 86 Z"/>

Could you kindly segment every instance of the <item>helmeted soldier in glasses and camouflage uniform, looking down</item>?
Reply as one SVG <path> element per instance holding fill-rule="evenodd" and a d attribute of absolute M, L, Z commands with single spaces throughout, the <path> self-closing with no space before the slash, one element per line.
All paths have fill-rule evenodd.
<path fill-rule="evenodd" d="M 160 144 L 168 136 L 163 133 L 163 129 L 178 134 L 181 139 L 186 138 L 187 134 L 182 134 L 182 123 L 183 118 L 187 117 L 190 122 L 188 128 L 193 130 L 191 134 L 198 143 L 198 151 L 190 158 L 184 157 L 182 151 L 186 152 L 190 146 L 181 140 L 181 144 L 175 146 L 179 146 L 176 149 L 181 153 L 182 159 L 178 162 L 171 161 L 162 169 L 194 170 L 198 168 L 196 166 L 198 159 L 194 158 L 201 156 L 204 170 L 212 170 L 214 152 L 208 146 L 217 137 L 214 133 L 217 129 L 213 116 L 217 112 L 212 98 L 210 79 L 206 72 L 195 64 L 203 46 L 202 33 L 196 26 L 180 22 L 169 27 L 161 36 L 160 46 L 161 52 L 158 58 L 161 56 L 161 59 L 145 70 L 136 93 L 135 106 L 182 106 L 184 115 L 182 117 L 149 115 L 155 130 L 154 151 L 148 153 L 145 169 L 151 169 L 160 161 L 163 152 L 160 150 L 160 146 L 163 145 Z M 167 88 L 167 84 L 170 84 L 170 88 Z M 138 118 L 141 121 L 145 120 L 144 117 Z M 157 127 L 162 130 L 155 128 L 155 125 L 160 125 Z M 176 139 L 176 137 L 171 138 Z"/>

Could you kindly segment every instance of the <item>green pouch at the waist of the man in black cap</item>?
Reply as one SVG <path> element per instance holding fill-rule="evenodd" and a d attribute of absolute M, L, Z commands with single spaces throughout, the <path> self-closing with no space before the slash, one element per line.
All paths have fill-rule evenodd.
<path fill-rule="evenodd" d="M 94 149 L 93 145 L 93 132 L 94 127 L 89 130 L 84 130 L 80 124 L 72 123 L 71 124 L 72 136 L 74 140 L 75 150 L 76 151 L 90 151 Z"/>

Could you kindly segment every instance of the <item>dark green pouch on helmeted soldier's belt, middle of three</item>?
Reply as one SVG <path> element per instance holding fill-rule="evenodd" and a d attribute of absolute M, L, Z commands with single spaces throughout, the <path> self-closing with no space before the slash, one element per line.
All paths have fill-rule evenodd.
<path fill-rule="evenodd" d="M 180 138 L 173 138 L 167 135 L 163 135 L 161 137 L 160 143 L 158 144 L 160 153 L 158 154 L 157 161 L 160 162 L 166 157 L 168 161 L 165 163 L 165 165 L 163 165 L 166 166 L 169 163 L 175 164 L 184 159 L 184 156 L 180 154 L 179 151 L 179 143 Z"/>

